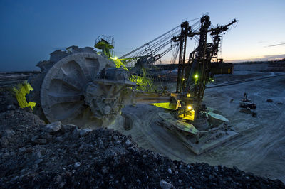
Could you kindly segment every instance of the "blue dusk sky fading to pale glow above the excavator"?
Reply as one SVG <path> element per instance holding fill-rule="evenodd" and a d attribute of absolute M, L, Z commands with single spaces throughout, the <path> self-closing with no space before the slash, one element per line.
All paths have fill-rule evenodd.
<path fill-rule="evenodd" d="M 212 24 L 239 20 L 223 38 L 228 62 L 285 58 L 285 1 L 0 0 L 0 71 L 38 70 L 53 50 L 91 46 L 104 34 L 115 54 L 208 13 Z"/>

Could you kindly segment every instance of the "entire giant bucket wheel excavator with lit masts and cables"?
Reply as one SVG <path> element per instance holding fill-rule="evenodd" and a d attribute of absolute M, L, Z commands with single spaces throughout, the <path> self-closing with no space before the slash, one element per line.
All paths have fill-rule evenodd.
<path fill-rule="evenodd" d="M 232 73 L 232 65 L 222 63 L 217 53 L 222 33 L 236 22 L 214 27 L 209 16 L 203 16 L 192 26 L 186 21 L 121 58 L 112 57 L 110 50 L 114 48 L 114 41 L 105 36 L 95 41 L 95 48 L 102 52 L 77 46 L 56 50 L 49 60 L 38 63 L 41 75 L 29 78 L 33 92 L 27 99 L 36 102 L 34 112 L 46 121 L 92 129 L 110 125 L 126 104 L 154 104 L 172 109 L 175 119 L 170 114 L 161 114 L 160 123 L 192 151 L 202 153 L 206 148 L 197 146 L 201 145 L 201 136 L 211 131 L 217 133 L 212 126 L 204 128 L 202 125 L 206 122 L 209 125 L 209 117 L 217 122 L 224 120 L 222 116 L 207 112 L 202 105 L 205 85 L 214 74 Z M 209 35 L 212 43 L 207 43 Z M 194 38 L 199 44 L 188 61 L 185 59 L 187 38 Z M 158 88 L 147 90 L 152 85 L 148 82 L 146 90 L 138 90 L 143 87 L 142 83 L 131 78 L 147 81 L 144 80 L 145 70 L 175 48 L 175 56 L 179 55 L 176 92 Z M 129 70 L 130 61 L 135 61 L 135 65 Z M 227 138 L 231 138 L 236 133 L 228 135 Z M 189 140 L 189 136 L 195 140 Z"/>

